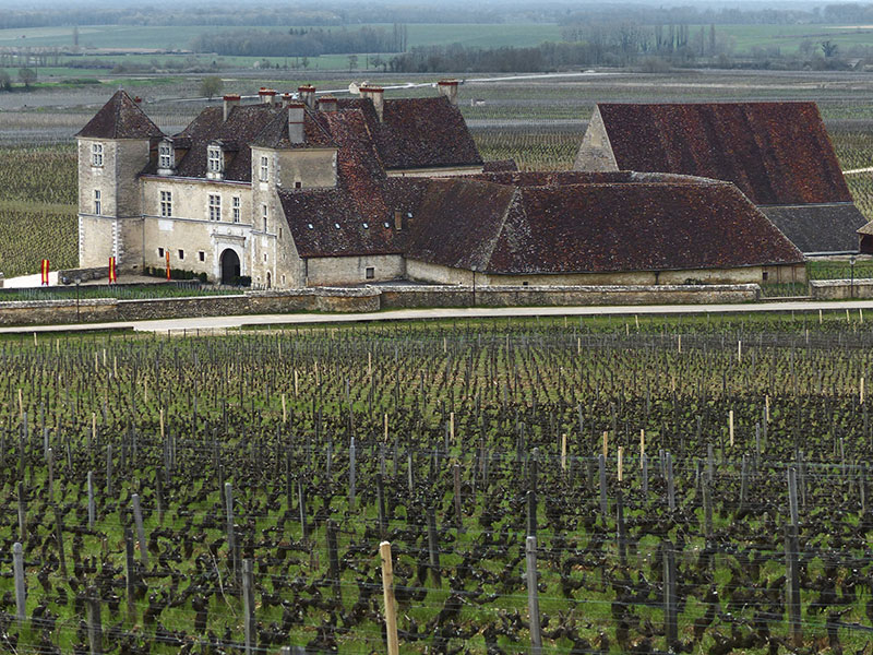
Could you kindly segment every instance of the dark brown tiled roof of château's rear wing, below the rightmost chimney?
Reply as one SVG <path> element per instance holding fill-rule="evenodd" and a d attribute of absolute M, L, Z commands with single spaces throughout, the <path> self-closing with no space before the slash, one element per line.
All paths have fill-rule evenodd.
<path fill-rule="evenodd" d="M 340 99 L 338 108 L 363 112 L 386 168 L 482 165 L 461 110 L 443 96 L 385 99 L 382 122 L 369 99 Z"/>

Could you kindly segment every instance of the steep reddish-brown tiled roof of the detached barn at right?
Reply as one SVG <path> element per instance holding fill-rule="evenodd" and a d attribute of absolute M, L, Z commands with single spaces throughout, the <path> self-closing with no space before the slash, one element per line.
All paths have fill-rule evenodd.
<path fill-rule="evenodd" d="M 814 103 L 601 104 L 622 170 L 731 181 L 755 204 L 851 202 Z"/>

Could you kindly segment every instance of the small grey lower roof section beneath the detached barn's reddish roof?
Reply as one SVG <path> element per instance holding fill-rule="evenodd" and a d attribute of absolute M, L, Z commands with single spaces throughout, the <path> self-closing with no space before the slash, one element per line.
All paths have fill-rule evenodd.
<path fill-rule="evenodd" d="M 857 252 L 866 218 L 853 203 L 761 207 L 803 252 Z"/>

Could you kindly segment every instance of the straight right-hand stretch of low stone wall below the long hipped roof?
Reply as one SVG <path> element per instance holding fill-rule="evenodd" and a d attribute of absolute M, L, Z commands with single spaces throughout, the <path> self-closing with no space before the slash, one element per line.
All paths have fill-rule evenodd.
<path fill-rule="evenodd" d="M 380 286 L 382 309 L 471 307 L 471 286 Z M 578 307 L 595 305 L 705 305 L 753 302 L 756 284 L 627 285 L 627 286 L 507 286 L 477 287 L 477 307 Z"/>

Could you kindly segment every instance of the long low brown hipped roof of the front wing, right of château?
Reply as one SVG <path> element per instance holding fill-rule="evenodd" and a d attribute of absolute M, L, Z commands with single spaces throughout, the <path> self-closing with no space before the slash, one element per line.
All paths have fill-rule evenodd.
<path fill-rule="evenodd" d="M 625 181 L 617 181 L 622 175 Z M 418 207 L 406 255 L 495 274 L 730 269 L 803 261 L 733 184 L 612 176 L 610 181 L 545 186 L 535 177 L 513 183 L 485 179 L 488 176 L 433 179 Z M 494 178 L 500 180 L 501 174 Z"/>

